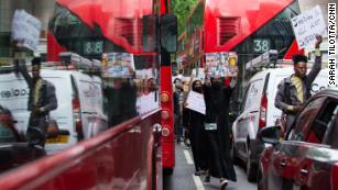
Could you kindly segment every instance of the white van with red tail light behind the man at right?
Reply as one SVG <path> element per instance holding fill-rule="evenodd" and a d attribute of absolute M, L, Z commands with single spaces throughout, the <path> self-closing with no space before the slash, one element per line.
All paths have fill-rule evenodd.
<path fill-rule="evenodd" d="M 282 111 L 274 105 L 277 86 L 293 72 L 293 67 L 270 68 L 255 74 L 248 83 L 242 112 L 232 124 L 232 155 L 235 161 L 241 159 L 247 163 L 250 181 L 255 179 L 257 164 L 262 153 L 262 147 L 255 146 L 257 133 L 260 127 L 275 125 L 281 118 Z M 321 69 L 312 86 L 312 93 L 326 88 L 327 76 L 328 69 Z"/>

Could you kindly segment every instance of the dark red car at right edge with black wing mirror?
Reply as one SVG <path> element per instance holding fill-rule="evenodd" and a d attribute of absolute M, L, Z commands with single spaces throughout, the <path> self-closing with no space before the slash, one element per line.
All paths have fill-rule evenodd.
<path fill-rule="evenodd" d="M 338 189 L 338 89 L 312 97 L 281 135 L 281 126 L 258 133 L 261 146 L 272 145 L 260 158 L 259 190 Z"/>

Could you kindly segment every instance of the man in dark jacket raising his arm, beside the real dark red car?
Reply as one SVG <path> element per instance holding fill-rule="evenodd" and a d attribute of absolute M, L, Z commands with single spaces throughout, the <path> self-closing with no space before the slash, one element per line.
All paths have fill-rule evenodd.
<path fill-rule="evenodd" d="M 295 54 L 292 58 L 295 72 L 290 77 L 284 78 L 279 85 L 279 91 L 275 97 L 275 107 L 283 111 L 284 115 L 282 118 L 286 118 L 286 128 L 284 128 L 286 131 L 296 119 L 303 103 L 310 97 L 312 83 L 321 69 L 319 45 L 323 37 L 318 35 L 316 38 L 316 58 L 310 72 L 306 75 L 307 57 L 303 54 Z"/>

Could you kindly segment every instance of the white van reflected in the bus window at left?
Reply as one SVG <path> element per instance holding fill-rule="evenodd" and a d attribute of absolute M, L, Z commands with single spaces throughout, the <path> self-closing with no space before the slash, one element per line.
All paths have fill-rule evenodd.
<path fill-rule="evenodd" d="M 55 86 L 57 109 L 50 113 L 63 132 L 56 138 L 48 138 L 47 153 L 65 149 L 83 138 L 91 137 L 108 127 L 103 114 L 101 79 L 77 70 L 41 69 L 43 79 Z M 0 104 L 13 114 L 17 128 L 25 133 L 30 112 L 28 111 L 29 88 L 19 74 L 0 75 Z"/>

